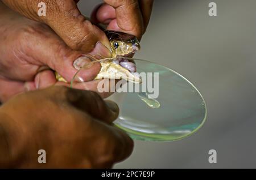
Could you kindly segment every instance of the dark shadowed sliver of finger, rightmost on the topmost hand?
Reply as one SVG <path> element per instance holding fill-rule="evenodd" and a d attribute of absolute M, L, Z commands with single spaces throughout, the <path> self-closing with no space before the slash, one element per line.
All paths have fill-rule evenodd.
<path fill-rule="evenodd" d="M 154 0 L 139 0 L 139 6 L 141 7 L 142 16 L 143 16 L 143 25 L 144 25 L 143 33 L 146 31 L 147 25 L 150 20 L 153 2 Z"/>

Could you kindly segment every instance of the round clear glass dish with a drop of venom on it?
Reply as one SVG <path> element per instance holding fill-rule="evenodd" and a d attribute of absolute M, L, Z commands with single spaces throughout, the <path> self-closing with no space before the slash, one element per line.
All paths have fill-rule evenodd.
<path fill-rule="evenodd" d="M 142 59 L 126 59 L 135 62 L 139 74 L 146 75 L 141 78 L 142 83 L 121 80 L 127 83 L 126 89 L 129 85 L 134 86 L 133 91 L 119 92 L 125 87 L 123 84 L 115 89 L 118 92 L 107 98 L 116 102 L 120 109 L 115 126 L 133 139 L 160 142 L 185 138 L 203 126 L 207 108 L 204 98 L 192 83 L 170 68 Z M 104 61 L 115 59 L 101 60 Z M 88 63 L 76 73 L 71 87 L 75 81 L 84 82 L 82 74 L 89 67 Z"/>

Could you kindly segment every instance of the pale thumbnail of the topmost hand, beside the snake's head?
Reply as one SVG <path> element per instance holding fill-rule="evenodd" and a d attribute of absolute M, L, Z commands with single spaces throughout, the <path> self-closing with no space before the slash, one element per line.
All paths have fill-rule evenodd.
<path fill-rule="evenodd" d="M 96 57 L 97 59 L 112 57 L 110 49 L 103 45 L 100 41 L 96 43 L 95 48 L 89 54 L 93 55 L 93 57 Z"/>

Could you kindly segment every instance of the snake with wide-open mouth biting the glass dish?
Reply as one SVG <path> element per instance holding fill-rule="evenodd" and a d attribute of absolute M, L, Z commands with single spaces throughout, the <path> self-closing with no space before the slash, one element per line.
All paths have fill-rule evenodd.
<path fill-rule="evenodd" d="M 139 40 L 136 36 L 130 35 L 124 32 L 117 31 L 104 31 L 110 42 L 110 52 L 114 61 L 101 62 L 101 70 L 95 79 L 109 78 L 116 79 L 116 75 L 113 72 L 117 72 L 121 75 L 131 76 L 127 79 L 129 81 L 138 83 L 138 75 L 135 74 L 136 66 L 135 63 L 130 62 L 126 58 L 134 54 L 141 49 Z M 62 82 L 67 82 L 62 76 L 55 72 L 56 79 Z"/>

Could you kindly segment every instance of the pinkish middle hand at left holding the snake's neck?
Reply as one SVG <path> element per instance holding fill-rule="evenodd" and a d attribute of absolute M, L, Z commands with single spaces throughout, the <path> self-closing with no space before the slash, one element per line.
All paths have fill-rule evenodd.
<path fill-rule="evenodd" d="M 21 92 L 56 84 L 52 70 L 71 82 L 77 71 L 73 62 L 85 53 L 69 48 L 47 25 L 26 19 L 11 10 L 1 12 L 0 33 L 2 102 Z M 91 54 L 111 56 L 108 49 L 99 47 L 94 48 Z M 93 80 L 99 70 L 100 65 L 97 64 L 90 68 L 85 74 L 86 80 Z M 84 87 L 87 85 L 88 90 L 97 91 L 97 83 L 91 81 L 84 84 Z M 68 83 L 57 84 L 69 86 Z"/>

